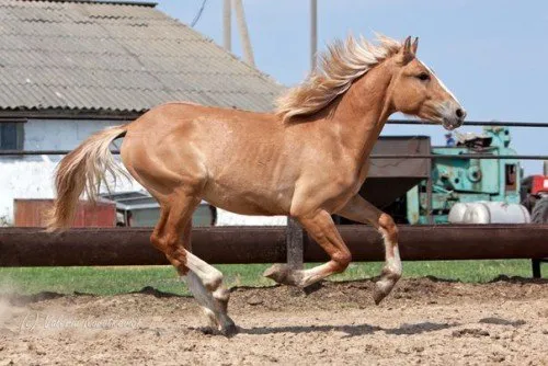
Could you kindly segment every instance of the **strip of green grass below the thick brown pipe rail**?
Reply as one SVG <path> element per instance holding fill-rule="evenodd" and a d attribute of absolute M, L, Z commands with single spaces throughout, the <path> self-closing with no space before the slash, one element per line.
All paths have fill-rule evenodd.
<path fill-rule="evenodd" d="M 313 264 L 307 264 L 307 267 Z M 383 263 L 352 263 L 332 281 L 368 278 L 379 274 Z M 548 265 L 544 264 L 544 277 Z M 269 286 L 274 283 L 262 277 L 267 264 L 216 265 L 225 274 L 226 284 L 232 286 Z M 404 262 L 404 277 L 435 276 L 461 282 L 489 282 L 504 274 L 530 277 L 530 261 L 432 261 Z M 59 294 L 87 293 L 114 295 L 138 291 L 151 286 L 161 291 L 189 295 L 184 283 L 179 281 L 171 266 L 130 267 L 14 267 L 0 268 L 0 293 L 35 294 L 55 291 Z"/>

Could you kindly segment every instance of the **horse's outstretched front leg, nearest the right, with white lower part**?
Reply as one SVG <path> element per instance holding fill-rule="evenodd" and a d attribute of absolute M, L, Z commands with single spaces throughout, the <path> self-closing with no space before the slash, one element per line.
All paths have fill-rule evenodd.
<path fill-rule="evenodd" d="M 370 224 L 383 235 L 386 249 L 386 264 L 380 279 L 375 285 L 373 298 L 379 304 L 401 277 L 401 260 L 398 249 L 398 228 L 393 219 L 356 194 L 338 215 L 362 224 Z"/>

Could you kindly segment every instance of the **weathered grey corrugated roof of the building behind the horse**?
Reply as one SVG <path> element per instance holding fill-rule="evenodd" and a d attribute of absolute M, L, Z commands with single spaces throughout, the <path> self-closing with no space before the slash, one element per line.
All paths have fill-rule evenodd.
<path fill-rule="evenodd" d="M 0 0 L 0 110 L 269 111 L 283 87 L 150 5 Z"/>

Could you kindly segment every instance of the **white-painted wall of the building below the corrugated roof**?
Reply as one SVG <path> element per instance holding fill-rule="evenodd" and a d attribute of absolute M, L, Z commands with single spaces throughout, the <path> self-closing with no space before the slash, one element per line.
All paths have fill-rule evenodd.
<path fill-rule="evenodd" d="M 24 125 L 24 150 L 71 150 L 91 134 L 117 121 L 30 119 Z M 0 157 L 0 226 L 13 224 L 14 198 L 53 198 L 53 174 L 60 156 Z M 114 192 L 142 190 L 137 182 L 118 179 Z M 218 226 L 285 225 L 286 217 L 243 216 L 222 209 Z"/>

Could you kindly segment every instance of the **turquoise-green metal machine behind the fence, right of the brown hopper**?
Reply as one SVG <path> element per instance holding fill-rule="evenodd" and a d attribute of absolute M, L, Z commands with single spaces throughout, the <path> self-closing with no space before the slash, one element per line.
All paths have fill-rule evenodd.
<path fill-rule="evenodd" d="M 470 153 L 514 156 L 516 152 L 510 148 L 510 141 L 511 135 L 506 127 L 484 127 L 483 134 L 463 136 L 455 147 L 432 148 L 433 156 L 443 156 L 432 159 L 431 211 L 434 224 L 449 222 L 449 213 L 456 204 L 520 204 L 522 170 L 518 160 L 450 157 Z M 409 224 L 429 224 L 427 198 L 427 182 L 421 182 L 408 191 L 406 218 Z M 501 206 L 492 207 L 496 209 L 494 207 Z M 520 216 L 521 211 L 517 213 Z"/>

